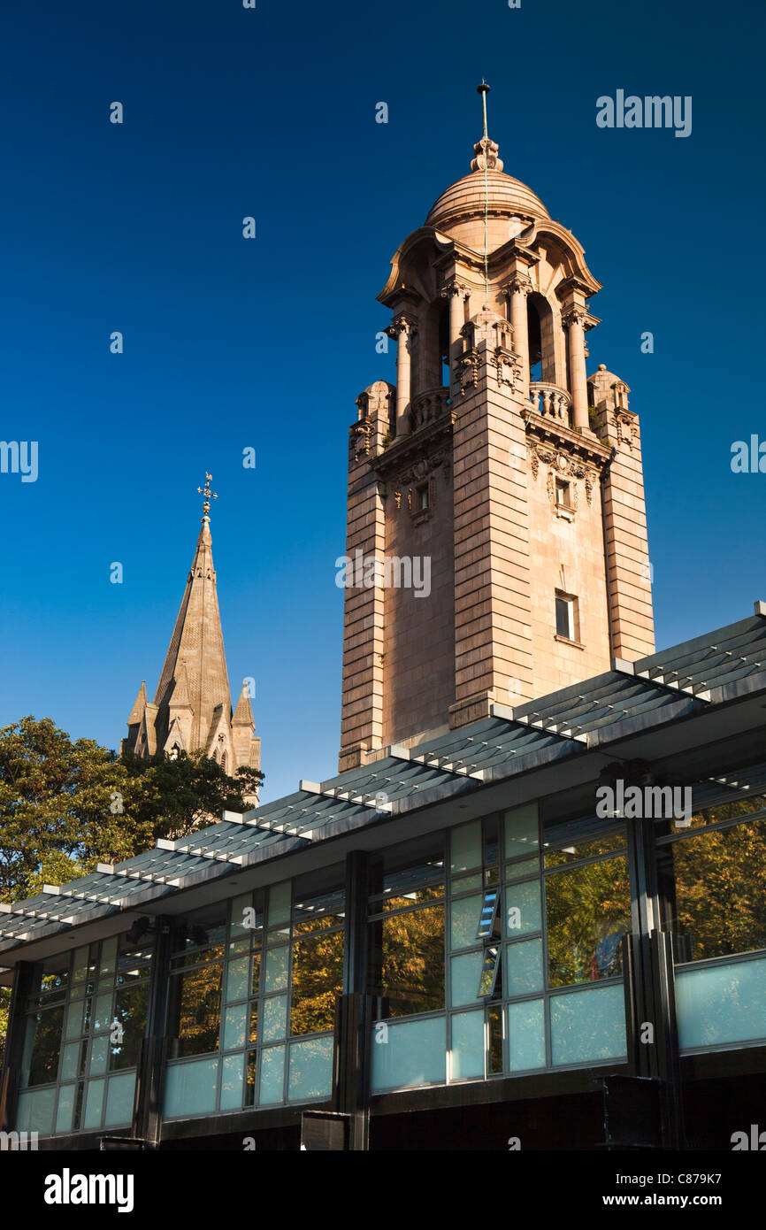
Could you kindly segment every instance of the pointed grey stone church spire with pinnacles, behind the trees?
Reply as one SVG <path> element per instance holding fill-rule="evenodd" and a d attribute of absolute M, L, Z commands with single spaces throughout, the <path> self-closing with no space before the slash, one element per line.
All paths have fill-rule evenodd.
<path fill-rule="evenodd" d="M 203 748 L 232 775 L 241 765 L 261 768 L 261 739 L 253 733 L 247 685 L 231 712 L 213 567 L 209 488 L 205 492 L 194 560 L 154 704 L 149 704 L 146 686 L 141 684 L 120 752 L 151 756 L 157 752 L 177 755 Z"/>

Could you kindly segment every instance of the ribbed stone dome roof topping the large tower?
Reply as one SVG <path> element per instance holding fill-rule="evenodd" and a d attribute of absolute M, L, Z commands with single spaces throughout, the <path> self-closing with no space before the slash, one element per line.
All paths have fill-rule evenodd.
<path fill-rule="evenodd" d="M 550 218 L 547 209 L 520 180 L 503 173 L 503 162 L 497 156 L 497 145 L 487 140 L 486 189 L 488 199 L 489 246 L 499 247 L 519 234 L 518 226 L 508 225 L 511 218 Z M 476 157 L 471 173 L 451 183 L 432 205 L 427 226 L 446 231 L 468 246 L 483 247 L 484 225 L 484 140 L 475 145 Z M 477 225 L 480 229 L 477 230 Z M 481 231 L 481 234 L 480 234 Z"/>

